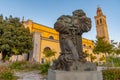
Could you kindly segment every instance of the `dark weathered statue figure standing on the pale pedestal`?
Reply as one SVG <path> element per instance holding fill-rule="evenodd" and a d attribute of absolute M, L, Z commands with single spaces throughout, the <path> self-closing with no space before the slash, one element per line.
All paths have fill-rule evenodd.
<path fill-rule="evenodd" d="M 75 10 L 72 16 L 62 15 L 54 28 L 59 32 L 61 53 L 53 61 L 53 70 L 85 71 L 96 70 L 93 63 L 87 62 L 82 48 L 82 34 L 91 29 L 91 19 L 83 10 Z"/>

